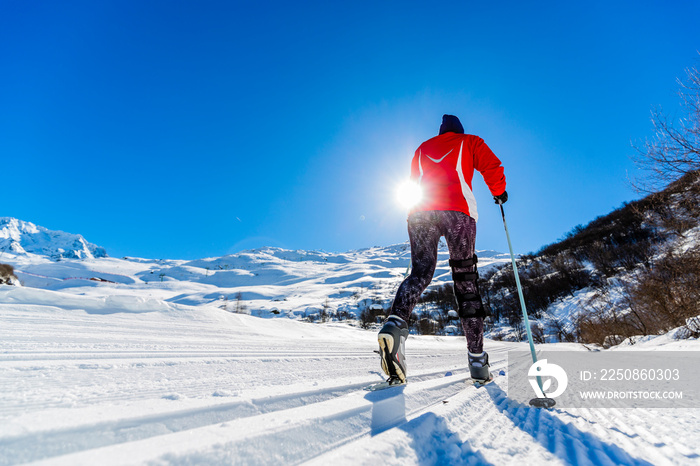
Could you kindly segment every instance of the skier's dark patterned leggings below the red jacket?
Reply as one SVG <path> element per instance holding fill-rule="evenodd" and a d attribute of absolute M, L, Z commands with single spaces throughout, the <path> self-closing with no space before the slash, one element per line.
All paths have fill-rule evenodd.
<path fill-rule="evenodd" d="M 423 291 L 428 287 L 437 265 L 438 243 L 444 236 L 450 258 L 468 259 L 474 255 L 476 221 L 463 212 L 432 210 L 415 212 L 408 217 L 408 236 L 411 241 L 411 274 L 401 283 L 391 314 L 409 321 Z M 469 267 L 475 269 L 475 267 Z M 473 270 L 457 270 L 472 272 Z M 473 281 L 455 281 L 455 295 L 478 294 Z M 462 301 L 462 302 L 460 302 Z M 458 299 L 460 306 L 468 306 Z M 479 307 L 479 306 L 477 306 Z M 480 307 L 479 307 L 480 309 Z M 460 315 L 462 312 L 460 312 Z M 481 353 L 484 346 L 484 318 L 460 317 L 467 346 L 471 353 Z"/>

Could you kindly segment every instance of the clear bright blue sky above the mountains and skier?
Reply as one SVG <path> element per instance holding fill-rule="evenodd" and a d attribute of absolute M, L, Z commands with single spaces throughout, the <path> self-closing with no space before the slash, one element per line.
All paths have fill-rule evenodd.
<path fill-rule="evenodd" d="M 700 3 L 0 0 L 0 216 L 112 256 L 407 240 L 443 113 L 506 170 L 514 248 L 639 197 Z M 507 250 L 480 175 L 477 248 Z"/>

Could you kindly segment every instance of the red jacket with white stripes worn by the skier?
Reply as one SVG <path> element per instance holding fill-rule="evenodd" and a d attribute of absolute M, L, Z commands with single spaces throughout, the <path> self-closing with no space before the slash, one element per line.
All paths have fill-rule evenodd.
<path fill-rule="evenodd" d="M 483 139 L 471 134 L 444 133 L 428 139 L 416 149 L 411 162 L 411 179 L 423 197 L 411 212 L 456 210 L 478 220 L 472 193 L 474 170 L 494 196 L 506 190 L 506 177 L 498 157 Z"/>

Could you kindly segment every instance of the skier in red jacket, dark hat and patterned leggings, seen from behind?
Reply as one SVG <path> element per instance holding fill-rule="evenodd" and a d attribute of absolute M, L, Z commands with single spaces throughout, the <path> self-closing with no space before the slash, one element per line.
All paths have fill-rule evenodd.
<path fill-rule="evenodd" d="M 484 305 L 477 285 L 474 253 L 476 199 L 472 193 L 474 170 L 479 171 L 496 204 L 508 200 L 501 161 L 480 137 L 464 134 L 454 115 L 443 115 L 439 135 L 425 141 L 411 162 L 411 180 L 422 198 L 408 215 L 411 274 L 401 283 L 391 314 L 379 331 L 379 353 L 389 385 L 406 382 L 405 342 L 408 321 L 418 298 L 430 284 L 437 263 L 438 241 L 445 237 L 450 251 L 454 292 L 467 337 L 469 372 L 475 382 L 491 379 L 484 351 Z"/>

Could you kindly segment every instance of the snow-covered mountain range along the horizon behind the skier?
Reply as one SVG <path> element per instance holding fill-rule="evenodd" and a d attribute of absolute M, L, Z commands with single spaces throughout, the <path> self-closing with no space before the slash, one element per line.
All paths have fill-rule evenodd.
<path fill-rule="evenodd" d="M 80 235 L 51 232 L 16 219 L 4 219 L 2 225 L 1 238 L 16 246 L 6 248 L 0 260 L 14 266 L 26 286 L 72 292 L 99 287 L 105 294 L 147 290 L 164 302 L 215 305 L 258 317 L 313 319 L 322 310 L 357 316 L 373 304 L 388 307 L 411 254 L 405 243 L 345 253 L 267 247 L 192 261 L 117 259 Z M 85 246 L 70 250 L 73 256 L 68 256 L 69 242 Z M 80 260 L 54 262 L 59 252 L 64 259 Z M 510 260 L 495 251 L 478 255 L 482 272 Z M 432 286 L 451 280 L 444 244 L 434 277 Z"/>

